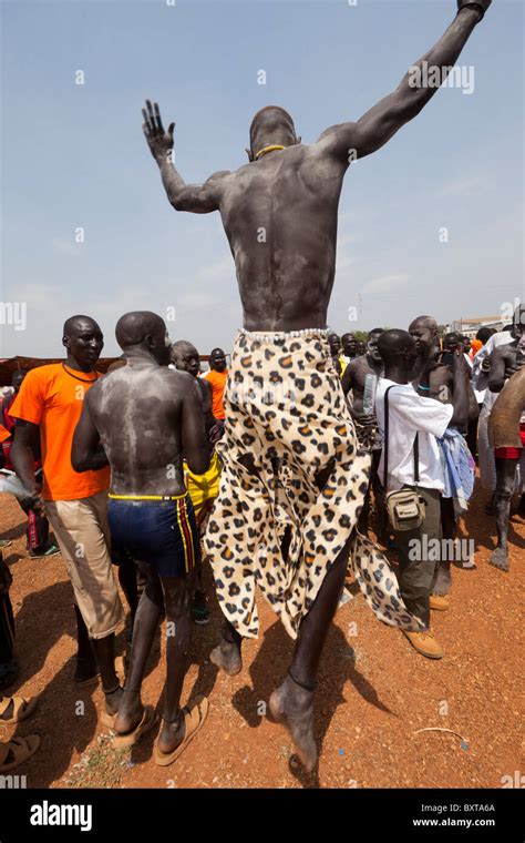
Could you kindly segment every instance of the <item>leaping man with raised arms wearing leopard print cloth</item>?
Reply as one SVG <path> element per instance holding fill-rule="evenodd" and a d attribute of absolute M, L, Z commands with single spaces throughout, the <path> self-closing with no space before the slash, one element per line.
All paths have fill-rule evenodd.
<path fill-rule="evenodd" d="M 459 6 L 419 70 L 428 62 L 444 78 L 490 0 L 460 0 Z M 402 620 L 382 587 L 385 561 L 356 534 L 370 458 L 357 455 L 326 326 L 344 174 L 351 160 L 381 149 L 436 92 L 414 87 L 414 75 L 411 68 L 397 90 L 360 120 L 327 129 L 312 144 L 300 143 L 287 111 L 262 109 L 250 125 L 249 163 L 215 173 L 204 184 L 186 184 L 173 166 L 175 124 L 164 130 L 156 103 L 147 101 L 143 112 L 146 141 L 173 207 L 220 212 L 244 311 L 218 446 L 224 463 L 219 497 L 206 537 L 229 623 L 214 659 L 229 673 L 240 669 L 241 637 L 258 634 L 258 585 L 297 637 L 292 663 L 270 708 L 309 770 L 318 754 L 315 682 L 349 551 L 368 566 L 374 586 L 363 588 L 368 598 L 373 592 L 375 611 L 413 623 L 408 616 Z"/>

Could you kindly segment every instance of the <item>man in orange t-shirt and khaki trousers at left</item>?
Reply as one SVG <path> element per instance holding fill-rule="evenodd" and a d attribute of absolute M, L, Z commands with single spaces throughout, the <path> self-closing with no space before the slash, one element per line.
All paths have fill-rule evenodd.
<path fill-rule="evenodd" d="M 45 511 L 53 527 L 73 586 L 79 630 L 75 681 L 87 683 L 100 669 L 106 712 L 113 714 L 122 693 L 114 669 L 114 638 L 123 609 L 109 550 L 110 469 L 102 447 L 96 470 L 79 474 L 71 465 L 73 434 L 84 396 L 101 377 L 95 365 L 104 343 L 99 325 L 89 316 L 69 318 L 62 342 L 68 351 L 64 363 L 29 372 L 10 408 L 17 419 L 11 459 L 34 507 Z M 32 469 L 39 436 L 41 490 Z"/>

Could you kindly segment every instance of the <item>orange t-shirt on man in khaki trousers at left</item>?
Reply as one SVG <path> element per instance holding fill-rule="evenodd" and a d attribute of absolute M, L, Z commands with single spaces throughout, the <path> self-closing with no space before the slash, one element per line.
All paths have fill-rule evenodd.
<path fill-rule="evenodd" d="M 9 409 L 14 418 L 40 426 L 44 471 L 42 495 L 45 500 L 89 498 L 110 486 L 109 466 L 79 474 L 71 465 L 73 434 L 85 393 L 95 380 L 85 383 L 90 373 L 79 372 L 73 376 L 68 372 L 61 363 L 31 369 Z"/>

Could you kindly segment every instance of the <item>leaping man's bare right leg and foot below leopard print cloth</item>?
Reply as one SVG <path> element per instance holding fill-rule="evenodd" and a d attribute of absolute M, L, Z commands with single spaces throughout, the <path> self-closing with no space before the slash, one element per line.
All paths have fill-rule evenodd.
<path fill-rule="evenodd" d="M 318 759 L 313 738 L 313 690 L 322 648 L 344 587 L 351 540 L 352 537 L 326 575 L 313 606 L 302 619 L 288 676 L 270 697 L 274 718 L 291 734 L 309 772 Z"/>

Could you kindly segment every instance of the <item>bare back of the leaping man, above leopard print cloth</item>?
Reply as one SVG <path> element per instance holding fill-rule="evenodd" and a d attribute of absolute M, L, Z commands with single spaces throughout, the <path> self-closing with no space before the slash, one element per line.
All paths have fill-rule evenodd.
<path fill-rule="evenodd" d="M 248 331 L 326 326 L 347 167 L 300 144 L 223 176 L 220 215 Z"/>

